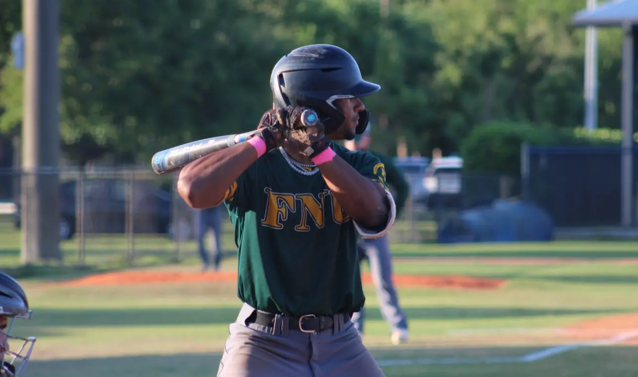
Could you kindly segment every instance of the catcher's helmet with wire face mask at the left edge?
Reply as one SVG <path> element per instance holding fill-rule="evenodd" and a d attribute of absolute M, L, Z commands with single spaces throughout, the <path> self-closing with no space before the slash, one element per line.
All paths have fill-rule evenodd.
<path fill-rule="evenodd" d="M 0 377 L 24 375 L 35 345 L 36 338 L 10 335 L 13 323 L 18 318 L 31 319 L 27 295 L 20 283 L 0 271 Z"/>

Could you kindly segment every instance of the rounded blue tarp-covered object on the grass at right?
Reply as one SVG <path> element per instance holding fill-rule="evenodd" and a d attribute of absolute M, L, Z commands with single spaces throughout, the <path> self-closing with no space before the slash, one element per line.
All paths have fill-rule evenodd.
<path fill-rule="evenodd" d="M 551 241 L 554 224 L 533 203 L 497 200 L 489 206 L 464 210 L 442 222 L 439 243 Z"/>

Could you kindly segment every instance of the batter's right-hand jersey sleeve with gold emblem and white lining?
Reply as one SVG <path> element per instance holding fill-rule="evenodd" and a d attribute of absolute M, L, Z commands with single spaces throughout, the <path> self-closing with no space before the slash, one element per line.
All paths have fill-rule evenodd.
<path fill-rule="evenodd" d="M 385 190 L 385 197 L 390 204 L 390 211 L 388 213 L 387 222 L 382 229 L 366 229 L 366 227 L 357 224 L 357 222 L 353 222 L 355 228 L 361 235 L 361 238 L 380 238 L 385 236 L 392 228 L 392 225 L 394 225 L 394 220 L 396 218 L 396 205 L 394 204 L 394 198 L 392 197 L 390 189 L 385 181 L 385 165 L 383 162 L 381 162 L 381 160 L 372 153 L 359 153 L 360 156 L 355 159 L 353 167 L 359 172 L 359 174 L 375 181 L 383 187 L 383 190 Z"/>

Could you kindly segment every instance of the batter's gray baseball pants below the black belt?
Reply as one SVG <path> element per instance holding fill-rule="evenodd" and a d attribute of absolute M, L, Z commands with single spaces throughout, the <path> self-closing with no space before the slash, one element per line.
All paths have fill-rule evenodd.
<path fill-rule="evenodd" d="M 384 377 L 350 318 L 306 334 L 277 315 L 273 327 L 246 323 L 255 309 L 242 306 L 219 362 L 218 377 Z"/>

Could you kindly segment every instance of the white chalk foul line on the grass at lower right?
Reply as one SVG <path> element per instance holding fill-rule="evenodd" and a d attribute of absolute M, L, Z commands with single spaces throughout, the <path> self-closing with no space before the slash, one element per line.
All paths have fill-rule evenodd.
<path fill-rule="evenodd" d="M 433 359 L 397 359 L 397 360 L 379 360 L 376 363 L 381 367 L 385 366 L 413 366 L 413 365 L 460 365 L 460 364 L 524 364 L 547 359 L 560 353 L 565 353 L 577 348 L 600 345 L 614 345 L 628 339 L 638 337 L 638 330 L 622 332 L 612 338 L 599 339 L 586 343 L 575 343 L 573 345 L 563 345 L 545 348 L 540 351 L 528 353 L 523 356 L 513 357 L 445 357 Z"/>

